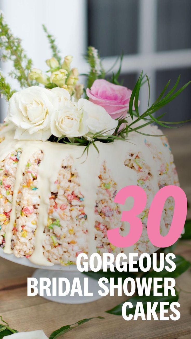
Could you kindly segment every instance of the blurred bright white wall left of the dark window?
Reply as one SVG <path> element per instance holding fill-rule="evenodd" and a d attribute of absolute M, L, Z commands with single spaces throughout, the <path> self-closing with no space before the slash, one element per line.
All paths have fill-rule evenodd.
<path fill-rule="evenodd" d="M 87 46 L 86 0 L 0 0 L 0 8 L 13 34 L 22 39 L 34 67 L 47 70 L 45 60 L 51 57 L 42 29 L 45 24 L 57 38 L 61 55 L 73 55 L 73 65 L 80 68 Z M 1 63 L 1 69 L 7 74 L 11 63 Z M 14 80 L 8 80 L 18 89 Z M 1 120 L 5 115 L 4 106 Z"/>

